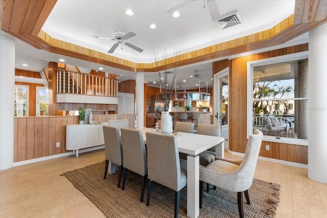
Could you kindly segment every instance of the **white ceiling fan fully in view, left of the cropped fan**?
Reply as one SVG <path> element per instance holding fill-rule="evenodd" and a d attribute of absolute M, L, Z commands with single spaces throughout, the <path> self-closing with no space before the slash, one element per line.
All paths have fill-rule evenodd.
<path fill-rule="evenodd" d="M 136 34 L 134 32 L 128 32 L 125 34 L 122 31 L 115 31 L 115 32 L 113 32 L 113 38 L 108 38 L 108 37 L 103 37 L 103 36 L 93 36 L 93 37 L 117 41 L 116 43 L 114 43 L 112 45 L 111 49 L 108 51 L 109 54 L 113 53 L 116 50 L 116 48 L 118 47 L 118 45 L 121 43 L 124 43 L 125 45 L 127 45 L 128 47 L 130 47 L 133 50 L 136 50 L 137 52 L 143 52 L 143 49 L 141 49 L 141 48 L 137 47 L 136 45 L 133 45 L 129 42 L 124 41 L 129 38 L 132 38 L 133 36 L 136 36 Z"/>

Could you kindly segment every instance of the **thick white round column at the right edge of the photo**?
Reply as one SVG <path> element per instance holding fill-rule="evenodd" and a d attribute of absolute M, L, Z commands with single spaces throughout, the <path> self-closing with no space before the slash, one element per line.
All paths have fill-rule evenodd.
<path fill-rule="evenodd" d="M 309 32 L 308 177 L 327 183 L 327 23 Z"/>

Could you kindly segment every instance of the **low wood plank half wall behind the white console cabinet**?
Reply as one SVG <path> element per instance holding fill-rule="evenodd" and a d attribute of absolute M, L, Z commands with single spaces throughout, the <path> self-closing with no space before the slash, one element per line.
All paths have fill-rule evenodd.
<path fill-rule="evenodd" d="M 97 122 L 128 119 L 134 128 L 137 114 L 94 115 Z M 66 150 L 66 125 L 78 124 L 78 116 L 14 117 L 14 162 L 70 152 Z M 56 142 L 60 147 L 56 148 Z"/>

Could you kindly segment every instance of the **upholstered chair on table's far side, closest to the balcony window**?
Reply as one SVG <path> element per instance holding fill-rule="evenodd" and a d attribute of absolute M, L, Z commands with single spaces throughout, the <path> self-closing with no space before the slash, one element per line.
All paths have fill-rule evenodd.
<path fill-rule="evenodd" d="M 214 124 L 198 124 L 197 134 L 219 136 L 219 125 Z M 208 150 L 199 154 L 199 163 L 202 166 L 207 166 L 216 158 L 216 147 L 209 148 Z M 214 186 L 216 189 L 216 186 Z M 206 184 L 206 190 L 209 191 L 209 184 Z"/>

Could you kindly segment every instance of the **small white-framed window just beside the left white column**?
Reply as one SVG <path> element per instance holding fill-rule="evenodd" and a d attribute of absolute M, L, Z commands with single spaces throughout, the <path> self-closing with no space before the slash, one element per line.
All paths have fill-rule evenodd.
<path fill-rule="evenodd" d="M 14 116 L 28 116 L 28 86 L 15 85 Z"/>

